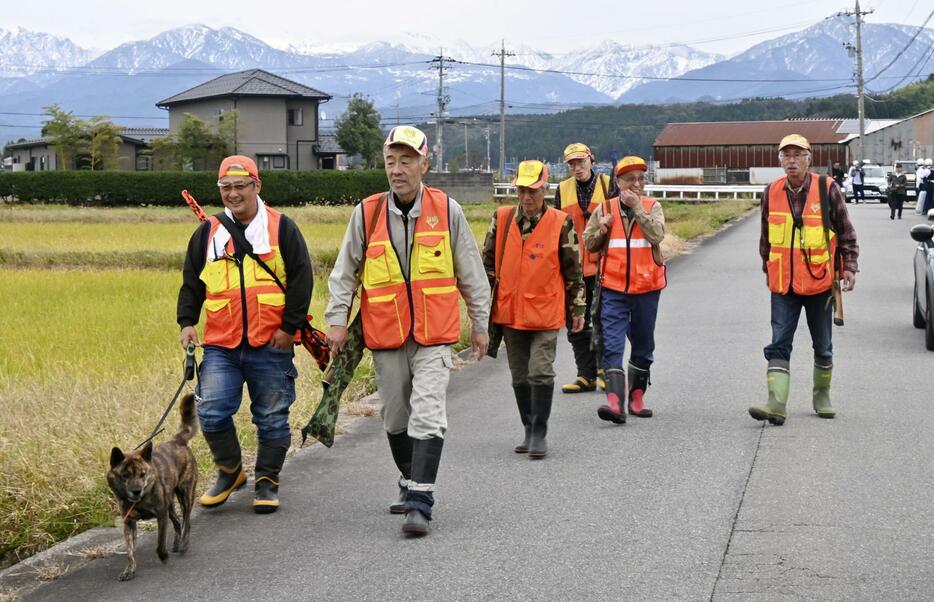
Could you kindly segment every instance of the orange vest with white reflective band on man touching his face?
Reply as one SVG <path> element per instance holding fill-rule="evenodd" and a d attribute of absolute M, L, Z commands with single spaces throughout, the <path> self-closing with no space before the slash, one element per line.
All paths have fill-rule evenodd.
<path fill-rule="evenodd" d="M 645 237 L 638 222 L 632 220 L 629 233 L 626 233 L 619 203 L 619 197 L 610 199 L 608 203 L 613 213 L 613 223 L 610 225 L 610 240 L 603 259 L 603 287 L 630 295 L 665 288 L 668 284 L 665 264 L 655 263 L 652 243 Z M 642 207 L 646 213 L 651 212 L 654 205 L 655 199 L 642 197 Z"/>

